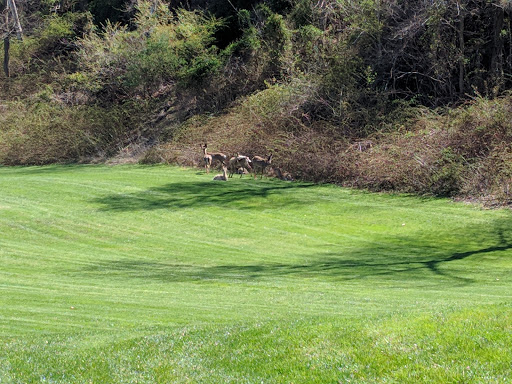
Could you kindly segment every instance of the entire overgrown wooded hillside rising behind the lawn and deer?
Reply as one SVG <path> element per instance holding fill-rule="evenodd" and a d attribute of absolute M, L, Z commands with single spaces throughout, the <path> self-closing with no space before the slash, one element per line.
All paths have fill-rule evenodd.
<path fill-rule="evenodd" d="M 208 142 L 297 179 L 512 201 L 508 0 L 16 4 L 1 164 L 198 165 Z"/>

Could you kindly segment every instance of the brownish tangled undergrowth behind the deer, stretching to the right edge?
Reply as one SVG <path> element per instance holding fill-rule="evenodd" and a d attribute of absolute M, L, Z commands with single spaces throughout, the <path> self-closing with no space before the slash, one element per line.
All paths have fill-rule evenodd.
<path fill-rule="evenodd" d="M 197 143 L 208 142 L 228 155 L 273 152 L 275 167 L 304 180 L 489 205 L 512 201 L 510 96 L 479 98 L 449 113 L 409 111 L 394 130 L 363 138 L 337 137 L 326 122 L 307 124 L 293 114 L 300 102 L 293 90 L 270 87 L 227 114 L 187 121 L 143 161 L 197 166 Z"/>

